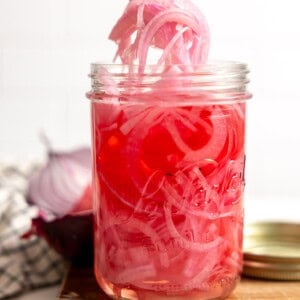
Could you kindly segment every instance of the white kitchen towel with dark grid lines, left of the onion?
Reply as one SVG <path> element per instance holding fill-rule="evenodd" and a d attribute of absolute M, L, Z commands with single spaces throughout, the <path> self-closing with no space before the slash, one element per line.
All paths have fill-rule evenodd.
<path fill-rule="evenodd" d="M 37 209 L 26 202 L 32 164 L 0 163 L 0 299 L 58 283 L 64 260 L 30 229 Z"/>

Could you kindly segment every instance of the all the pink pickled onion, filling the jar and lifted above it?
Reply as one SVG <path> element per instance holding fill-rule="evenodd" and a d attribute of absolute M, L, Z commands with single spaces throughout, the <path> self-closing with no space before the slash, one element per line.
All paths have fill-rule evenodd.
<path fill-rule="evenodd" d="M 203 94 L 182 89 L 209 48 L 205 18 L 190 1 L 132 0 L 110 39 L 118 44 L 116 59 L 129 67 L 121 83 L 105 70 L 98 74 L 102 96 L 119 103 L 115 111 L 99 103 L 105 124 L 94 106 L 96 274 L 147 295 L 205 294 L 240 271 L 243 107 L 201 104 Z M 152 48 L 159 51 L 154 61 Z M 145 75 L 149 61 L 163 65 L 156 69 L 162 73 Z"/>

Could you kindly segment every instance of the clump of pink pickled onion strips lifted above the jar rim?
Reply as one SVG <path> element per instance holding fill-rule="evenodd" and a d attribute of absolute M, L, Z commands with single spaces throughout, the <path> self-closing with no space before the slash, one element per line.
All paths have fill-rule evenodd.
<path fill-rule="evenodd" d="M 109 38 L 129 65 L 144 66 L 150 47 L 162 50 L 165 64 L 203 64 L 208 56 L 207 22 L 189 0 L 130 1 Z"/>

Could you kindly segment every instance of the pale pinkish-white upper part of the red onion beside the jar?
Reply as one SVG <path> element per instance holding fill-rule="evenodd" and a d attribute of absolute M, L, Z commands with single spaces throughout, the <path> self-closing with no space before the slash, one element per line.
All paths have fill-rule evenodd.
<path fill-rule="evenodd" d="M 91 151 L 49 151 L 48 162 L 29 179 L 28 200 L 50 221 L 92 209 Z"/>

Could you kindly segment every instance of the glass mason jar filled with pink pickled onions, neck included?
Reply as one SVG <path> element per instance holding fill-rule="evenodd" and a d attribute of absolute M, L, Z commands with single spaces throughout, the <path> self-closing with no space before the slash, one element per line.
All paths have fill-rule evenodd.
<path fill-rule="evenodd" d="M 245 64 L 92 64 L 95 275 L 117 299 L 222 299 L 242 270 Z"/>

